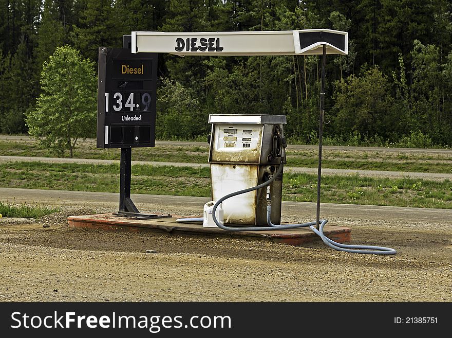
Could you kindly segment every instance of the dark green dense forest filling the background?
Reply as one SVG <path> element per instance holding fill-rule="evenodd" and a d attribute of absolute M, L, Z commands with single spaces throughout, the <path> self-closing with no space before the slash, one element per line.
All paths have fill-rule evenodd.
<path fill-rule="evenodd" d="M 349 32 L 349 54 L 327 57 L 327 143 L 450 148 L 451 8 L 448 0 L 0 0 L 0 133 L 28 133 L 43 64 L 59 46 L 77 49 L 96 76 L 98 47 L 122 47 L 131 31 L 329 28 Z M 209 114 L 253 113 L 286 114 L 289 141 L 317 142 L 317 56 L 159 55 L 158 76 L 160 139 L 204 137 Z M 95 119 L 95 104 L 86 109 Z M 96 137 L 91 124 L 83 136 Z"/>

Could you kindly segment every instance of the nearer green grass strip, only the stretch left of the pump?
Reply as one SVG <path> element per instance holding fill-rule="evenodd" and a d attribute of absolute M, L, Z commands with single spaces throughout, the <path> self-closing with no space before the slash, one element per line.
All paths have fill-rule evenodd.
<path fill-rule="evenodd" d="M 10 188 L 119 192 L 119 165 L 0 164 L 0 186 Z M 134 193 L 208 196 L 210 169 L 173 166 L 132 166 Z"/>

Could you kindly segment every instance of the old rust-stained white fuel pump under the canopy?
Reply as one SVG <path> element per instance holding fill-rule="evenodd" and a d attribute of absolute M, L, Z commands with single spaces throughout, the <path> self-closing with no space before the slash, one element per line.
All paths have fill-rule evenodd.
<path fill-rule="evenodd" d="M 210 115 L 209 163 L 212 200 L 268 181 L 285 159 L 283 125 L 286 115 Z M 283 163 L 281 163 L 283 161 Z M 271 183 L 271 221 L 281 222 L 283 173 Z M 224 224 L 267 225 L 265 189 L 232 197 L 222 204 Z"/>

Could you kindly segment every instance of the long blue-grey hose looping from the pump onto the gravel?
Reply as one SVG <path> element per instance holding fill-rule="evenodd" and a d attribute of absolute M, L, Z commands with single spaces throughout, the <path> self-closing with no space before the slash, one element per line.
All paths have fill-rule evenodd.
<path fill-rule="evenodd" d="M 326 245 L 328 245 L 329 247 L 331 247 L 337 251 L 345 251 L 345 252 L 356 253 L 356 254 L 372 254 L 372 255 L 393 255 L 393 254 L 397 253 L 396 250 L 394 250 L 390 247 L 385 247 L 385 246 L 349 245 L 349 244 L 337 243 L 337 242 L 329 239 L 328 237 L 326 237 L 323 233 L 323 228 L 324 228 L 325 224 L 327 224 L 328 220 L 320 220 L 320 225 L 319 225 L 318 229 L 316 229 L 314 226 L 316 224 L 315 221 L 307 222 L 307 223 L 300 223 L 300 224 L 285 224 L 285 225 L 273 224 L 270 220 L 270 215 L 271 215 L 271 206 L 270 205 L 267 206 L 267 224 L 269 226 L 259 226 L 259 227 L 256 227 L 256 226 L 255 227 L 225 226 L 216 219 L 215 211 L 216 211 L 218 205 L 220 205 L 220 203 L 222 203 L 224 200 L 227 200 L 231 197 L 240 195 L 242 193 L 247 193 L 247 192 L 250 192 L 253 190 L 257 190 L 257 189 L 266 187 L 270 183 L 272 183 L 276 179 L 276 177 L 278 177 L 281 174 L 282 171 L 283 171 L 283 165 L 281 164 L 281 165 L 279 165 L 279 168 L 276 171 L 276 173 L 272 177 L 270 177 L 270 179 L 267 180 L 266 182 L 263 182 L 255 187 L 232 192 L 232 193 L 227 194 L 224 197 L 220 198 L 215 203 L 215 205 L 212 209 L 212 219 L 215 222 L 215 224 L 219 228 L 221 228 L 223 230 L 227 230 L 227 231 L 265 231 L 265 230 L 283 230 L 283 229 L 293 229 L 293 228 L 299 228 L 299 227 L 309 227 L 314 233 L 316 233 L 318 236 L 320 236 L 320 238 Z M 180 222 L 180 223 L 202 222 L 202 220 L 203 220 L 202 218 L 180 218 L 177 220 L 177 222 Z"/>

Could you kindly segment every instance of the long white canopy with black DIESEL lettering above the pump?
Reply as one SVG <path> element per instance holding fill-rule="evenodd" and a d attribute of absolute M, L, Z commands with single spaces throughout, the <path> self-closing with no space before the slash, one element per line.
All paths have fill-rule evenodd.
<path fill-rule="evenodd" d="M 348 32 L 303 29 L 245 32 L 137 32 L 131 51 L 185 55 L 347 55 Z"/>

